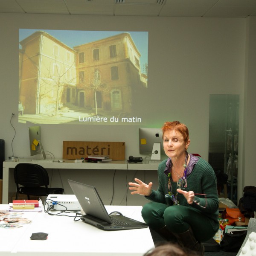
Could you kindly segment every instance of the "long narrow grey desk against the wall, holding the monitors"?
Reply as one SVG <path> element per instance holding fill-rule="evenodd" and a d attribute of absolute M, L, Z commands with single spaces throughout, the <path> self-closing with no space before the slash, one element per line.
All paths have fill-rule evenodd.
<path fill-rule="evenodd" d="M 9 175 L 13 176 L 11 169 L 18 163 L 31 163 L 31 159 L 20 158 L 19 161 L 6 160 L 3 162 L 3 204 L 8 204 L 9 194 Z M 108 170 L 126 170 L 126 161 L 113 160 L 110 163 L 74 163 L 74 160 L 64 160 L 62 163 L 39 162 L 39 165 L 45 169 L 108 169 Z M 128 170 L 157 170 L 158 164 L 128 163 Z"/>

